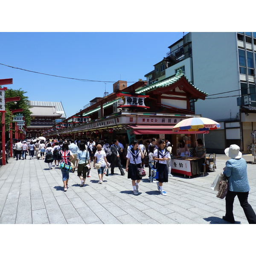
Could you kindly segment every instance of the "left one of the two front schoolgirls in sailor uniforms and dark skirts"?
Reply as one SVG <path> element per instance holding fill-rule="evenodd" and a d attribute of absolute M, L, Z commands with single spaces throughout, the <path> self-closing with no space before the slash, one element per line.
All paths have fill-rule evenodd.
<path fill-rule="evenodd" d="M 127 152 L 127 160 L 126 160 L 126 172 L 128 172 L 128 179 L 131 179 L 132 187 L 133 187 L 133 193 L 134 195 L 138 195 L 139 189 L 139 182 L 142 179 L 142 177 L 138 176 L 137 174 L 137 168 L 141 168 L 141 162 L 144 158 L 143 151 L 139 147 L 139 143 L 137 140 L 134 140 L 133 148 L 128 150 Z M 129 167 L 128 167 L 129 165 Z"/>

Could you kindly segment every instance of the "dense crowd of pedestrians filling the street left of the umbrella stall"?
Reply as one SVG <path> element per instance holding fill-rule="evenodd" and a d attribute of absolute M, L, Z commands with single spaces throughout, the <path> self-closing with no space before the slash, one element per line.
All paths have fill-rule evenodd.
<path fill-rule="evenodd" d="M 99 184 L 103 183 L 103 175 L 109 167 L 110 174 L 114 175 L 114 168 L 118 167 L 120 175 L 125 176 L 125 171 L 128 172 L 128 178 L 132 180 L 132 188 L 134 195 L 138 195 L 141 177 L 137 175 L 137 168 L 145 168 L 144 157 L 148 157 L 149 173 L 148 179 L 150 182 L 157 183 L 157 187 L 162 195 L 166 195 L 163 191 L 163 182 L 168 182 L 168 177 L 171 174 L 171 158 L 172 144 L 168 139 L 160 140 L 159 145 L 163 150 L 158 149 L 157 139 L 152 138 L 151 142 L 146 141 L 143 145 L 143 140 L 139 142 L 134 140 L 125 148 L 124 142 L 115 139 L 112 141 L 96 140 L 86 138 L 84 140 L 58 140 L 48 139 L 46 141 L 33 138 L 31 140 L 18 140 L 13 142 L 12 150 L 13 157 L 16 160 L 29 159 L 44 160 L 48 164 L 49 170 L 52 167 L 58 167 L 62 172 L 62 180 L 64 191 L 68 188 L 69 173 L 75 172 L 81 180 L 80 186 L 85 186 L 88 172 L 90 172 L 90 164 L 93 163 L 93 168 L 96 164 L 100 164 L 97 168 L 99 175 Z M 168 149 L 166 147 L 168 145 Z M 160 150 L 160 151 L 159 151 Z M 160 153 L 155 153 L 155 152 Z M 154 155 L 153 155 L 154 154 Z M 160 157 L 157 156 L 160 154 Z M 164 154 L 164 157 L 161 155 Z M 135 158 L 134 158 L 135 157 Z M 166 168 L 160 168 L 163 177 L 160 175 L 160 180 L 154 179 L 151 173 L 154 163 L 165 165 Z M 123 168 L 125 167 L 125 168 Z M 164 171 L 163 171 L 164 169 Z"/>

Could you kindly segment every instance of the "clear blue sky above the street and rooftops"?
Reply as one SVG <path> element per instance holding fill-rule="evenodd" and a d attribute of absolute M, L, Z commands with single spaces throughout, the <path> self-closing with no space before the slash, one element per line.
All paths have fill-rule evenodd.
<path fill-rule="evenodd" d="M 186 33 L 186 32 L 185 32 Z M 27 72 L 0 65 L 8 88 L 26 91 L 29 100 L 62 102 L 67 117 L 91 99 L 113 92 L 113 82 L 136 82 L 166 57 L 183 32 L 1 32 L 0 64 L 76 79 Z M 113 81 L 113 82 L 112 82 Z"/>

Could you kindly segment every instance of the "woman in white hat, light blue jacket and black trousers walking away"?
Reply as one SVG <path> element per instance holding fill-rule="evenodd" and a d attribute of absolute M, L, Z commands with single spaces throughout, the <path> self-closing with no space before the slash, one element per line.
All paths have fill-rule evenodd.
<path fill-rule="evenodd" d="M 242 153 L 239 150 L 240 148 L 236 144 L 230 145 L 229 148 L 225 149 L 225 154 L 228 157 L 231 157 L 231 159 L 226 162 L 226 167 L 224 167 L 223 172 L 228 178 L 229 189 L 225 198 L 226 215 L 222 218 L 225 221 L 235 223 L 233 215 L 233 203 L 237 195 L 247 221 L 249 224 L 256 224 L 255 212 L 247 201 L 250 190 L 247 178 L 247 164 L 244 158 L 241 158 Z"/>

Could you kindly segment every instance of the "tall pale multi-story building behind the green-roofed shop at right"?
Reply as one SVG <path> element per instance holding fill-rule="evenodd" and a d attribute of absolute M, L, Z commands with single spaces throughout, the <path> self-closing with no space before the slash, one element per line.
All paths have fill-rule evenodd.
<path fill-rule="evenodd" d="M 189 32 L 168 48 L 145 75 L 148 84 L 181 69 L 209 93 L 205 101 L 191 103 L 195 113 L 221 123 L 221 129 L 204 135 L 208 150 L 221 153 L 236 143 L 246 151 L 256 130 L 256 32 Z"/>

